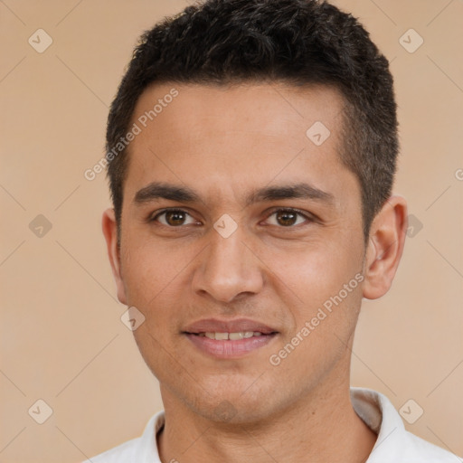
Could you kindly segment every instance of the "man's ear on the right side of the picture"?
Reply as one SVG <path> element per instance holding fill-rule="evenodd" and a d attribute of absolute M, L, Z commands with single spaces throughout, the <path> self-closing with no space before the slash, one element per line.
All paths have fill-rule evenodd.
<path fill-rule="evenodd" d="M 364 298 L 381 298 L 392 285 L 407 231 L 407 203 L 392 196 L 374 217 L 364 264 Z"/>

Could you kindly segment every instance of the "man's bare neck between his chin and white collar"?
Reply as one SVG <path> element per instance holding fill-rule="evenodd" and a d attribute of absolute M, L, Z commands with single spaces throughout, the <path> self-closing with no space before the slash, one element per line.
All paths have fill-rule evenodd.
<path fill-rule="evenodd" d="M 348 378 L 331 389 L 326 388 L 327 383 L 329 379 L 320 383 L 309 397 L 266 420 L 240 424 L 207 420 L 162 390 L 165 429 L 157 440 L 161 460 L 164 463 L 365 461 L 377 436 L 355 413 Z"/>

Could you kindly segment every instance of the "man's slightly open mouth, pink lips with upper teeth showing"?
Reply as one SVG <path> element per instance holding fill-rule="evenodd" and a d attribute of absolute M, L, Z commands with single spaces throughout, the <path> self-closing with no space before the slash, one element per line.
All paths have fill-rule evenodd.
<path fill-rule="evenodd" d="M 241 318 L 232 321 L 201 320 L 187 327 L 182 334 L 203 354 L 215 358 L 238 358 L 268 345 L 279 332 Z"/>

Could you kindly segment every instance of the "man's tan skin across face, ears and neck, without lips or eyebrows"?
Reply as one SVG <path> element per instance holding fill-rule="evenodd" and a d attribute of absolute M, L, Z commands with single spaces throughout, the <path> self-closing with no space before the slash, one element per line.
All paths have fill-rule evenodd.
<path fill-rule="evenodd" d="M 146 317 L 134 335 L 165 405 L 162 461 L 363 461 L 376 435 L 350 402 L 350 349 L 362 298 L 380 298 L 392 284 L 405 201 L 392 196 L 384 204 L 365 246 L 360 186 L 338 156 L 336 90 L 166 83 L 142 94 L 132 123 L 173 87 L 179 95 L 129 146 L 120 249 L 113 210 L 102 220 L 118 299 Z M 321 146 L 306 136 L 316 121 L 331 132 Z M 200 201 L 135 202 L 152 182 L 187 186 Z M 300 183 L 330 201 L 245 203 L 255 189 Z M 186 214 L 149 222 L 169 207 Z M 275 213 L 281 208 L 312 220 L 290 216 L 288 225 Z M 237 224 L 228 238 L 213 228 L 224 213 Z M 359 273 L 363 282 L 278 366 L 270 364 Z M 182 334 L 211 317 L 248 317 L 279 334 L 241 358 L 216 359 Z"/>

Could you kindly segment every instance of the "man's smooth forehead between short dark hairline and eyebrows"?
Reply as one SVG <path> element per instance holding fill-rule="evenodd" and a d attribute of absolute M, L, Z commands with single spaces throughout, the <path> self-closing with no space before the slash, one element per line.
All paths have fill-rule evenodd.
<path fill-rule="evenodd" d="M 128 147 L 127 193 L 153 181 L 210 184 L 215 194 L 273 180 L 326 189 L 346 170 L 343 101 L 325 86 L 277 82 L 151 86 L 131 121 L 139 134 Z"/>

